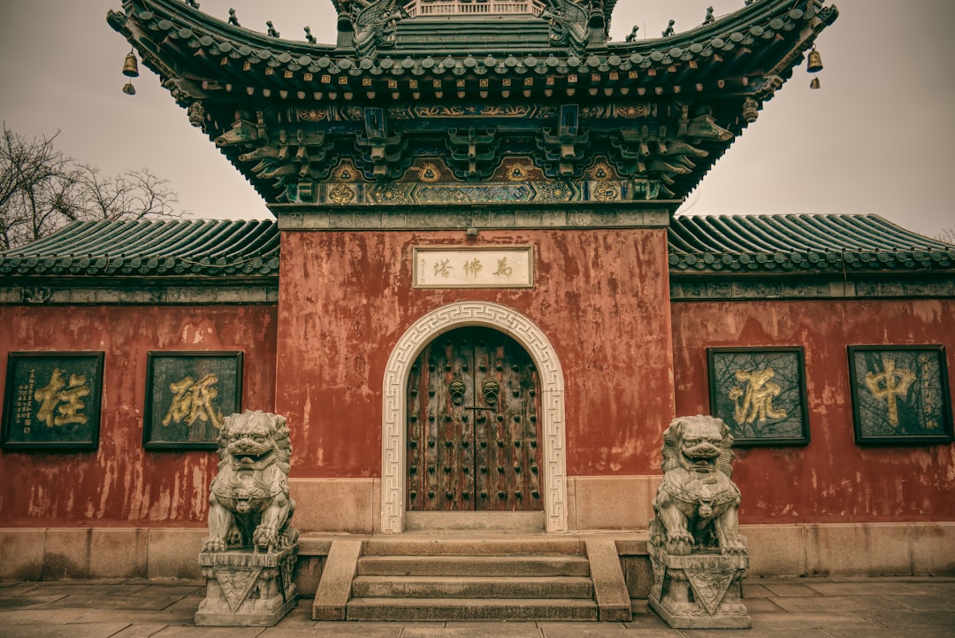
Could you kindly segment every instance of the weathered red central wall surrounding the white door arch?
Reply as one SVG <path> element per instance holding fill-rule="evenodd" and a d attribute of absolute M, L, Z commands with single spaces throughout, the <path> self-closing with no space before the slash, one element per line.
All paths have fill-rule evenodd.
<path fill-rule="evenodd" d="M 385 366 L 422 315 L 486 301 L 551 340 L 566 384 L 567 472 L 652 472 L 673 415 L 666 232 L 285 232 L 276 409 L 295 477 L 378 477 Z M 414 245 L 533 245 L 536 287 L 413 289 Z"/>

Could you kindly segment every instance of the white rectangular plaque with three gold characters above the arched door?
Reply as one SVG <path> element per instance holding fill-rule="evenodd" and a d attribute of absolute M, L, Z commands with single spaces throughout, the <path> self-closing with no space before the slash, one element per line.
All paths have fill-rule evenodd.
<path fill-rule="evenodd" d="M 414 287 L 533 287 L 534 251 L 521 246 L 416 246 Z"/>

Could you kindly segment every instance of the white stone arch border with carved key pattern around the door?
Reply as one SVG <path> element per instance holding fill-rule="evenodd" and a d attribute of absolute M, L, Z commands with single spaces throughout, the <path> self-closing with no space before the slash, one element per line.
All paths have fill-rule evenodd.
<path fill-rule="evenodd" d="M 438 335 L 466 326 L 500 330 L 531 355 L 541 382 L 544 528 L 567 531 L 566 432 L 563 422 L 563 372 L 543 331 L 517 310 L 499 304 L 466 301 L 435 308 L 414 322 L 398 340 L 385 369 L 381 420 L 381 531 L 404 531 L 405 385 L 417 355 Z"/>

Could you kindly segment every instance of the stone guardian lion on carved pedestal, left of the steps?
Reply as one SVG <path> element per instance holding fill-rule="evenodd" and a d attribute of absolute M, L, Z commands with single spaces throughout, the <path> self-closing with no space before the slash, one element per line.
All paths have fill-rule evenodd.
<path fill-rule="evenodd" d="M 219 456 L 209 490 L 209 537 L 199 555 L 205 599 L 195 623 L 272 627 L 298 602 L 286 418 L 247 410 L 227 416 Z"/>

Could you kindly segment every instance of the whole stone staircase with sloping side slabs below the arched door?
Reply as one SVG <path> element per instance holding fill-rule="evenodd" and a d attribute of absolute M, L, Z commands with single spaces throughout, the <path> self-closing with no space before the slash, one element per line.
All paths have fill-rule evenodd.
<path fill-rule="evenodd" d="M 621 621 L 630 601 L 612 542 L 412 535 L 333 542 L 312 616 Z"/>

